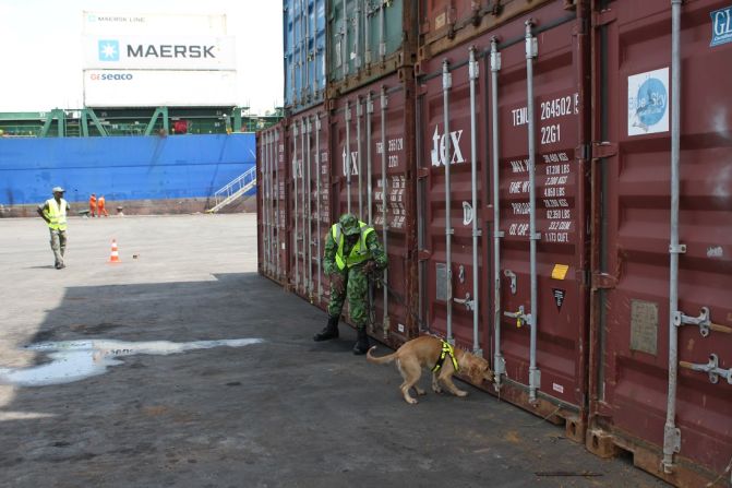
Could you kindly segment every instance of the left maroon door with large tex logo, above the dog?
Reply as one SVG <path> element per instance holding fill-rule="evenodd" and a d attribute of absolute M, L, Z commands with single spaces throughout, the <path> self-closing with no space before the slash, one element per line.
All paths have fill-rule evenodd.
<path fill-rule="evenodd" d="M 447 92 L 448 103 L 444 104 L 442 59 L 434 59 L 422 64 L 428 74 L 420 81 L 421 121 L 420 150 L 421 166 L 425 176 L 421 185 L 423 204 L 420 221 L 423 227 L 422 257 L 428 258 L 421 266 L 422 303 L 424 329 L 435 333 L 467 350 L 480 347 L 473 343 L 473 275 L 482 266 L 484 252 L 478 252 L 478 269 L 472 260 L 472 190 L 471 190 L 471 107 L 469 73 L 466 62 L 469 46 L 456 48 L 447 53 L 451 69 L 452 87 Z M 481 75 L 484 75 L 481 72 Z M 477 187 L 480 191 L 478 209 L 484 205 L 483 195 L 487 178 L 485 164 L 485 96 L 484 83 L 480 79 L 476 83 L 476 144 L 481 150 L 478 157 Z M 445 130 L 445 109 L 448 112 L 448 128 Z M 446 147 L 449 145 L 449 152 Z M 446 164 L 449 162 L 449 188 L 446 185 Z M 446 215 L 446 198 L 449 193 L 449 223 Z M 449 224 L 449 229 L 447 228 Z M 481 223 L 482 224 L 482 223 Z M 483 235 L 485 229 L 483 228 Z M 451 252 L 447 254 L 446 233 L 451 234 Z M 452 261 L 452 264 L 447 262 Z M 488 276 L 488 267 L 483 266 L 483 277 Z M 478 293 L 479 326 L 484 329 L 485 284 Z M 449 306 L 449 310 L 448 310 Z M 481 307 L 482 306 L 482 307 Z M 449 323 L 448 323 L 449 314 Z M 449 330 L 448 330 L 449 329 Z M 490 349 L 485 349 L 487 352 Z"/>

